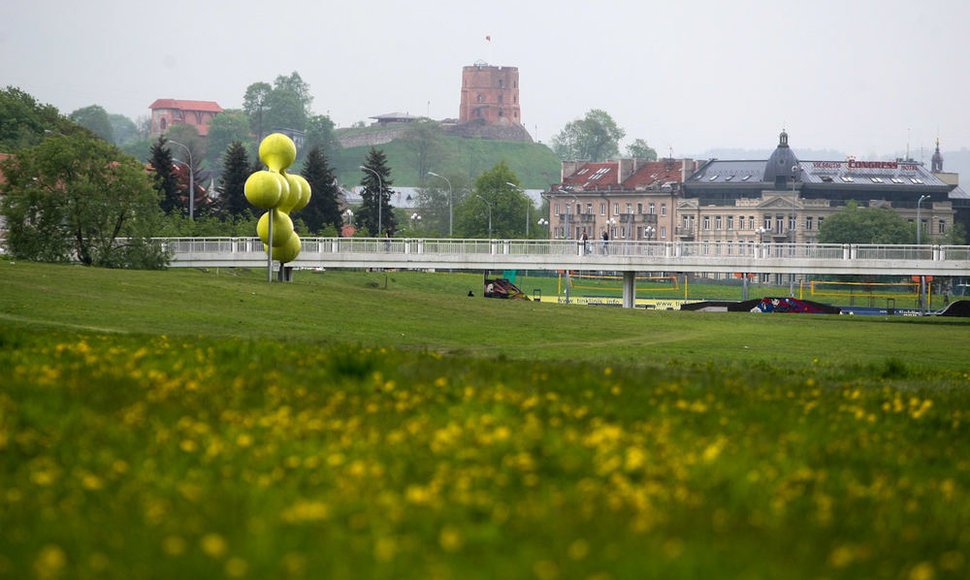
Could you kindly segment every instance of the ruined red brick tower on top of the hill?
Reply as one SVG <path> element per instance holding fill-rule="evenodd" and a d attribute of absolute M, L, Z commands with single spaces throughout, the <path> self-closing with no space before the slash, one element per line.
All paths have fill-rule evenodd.
<path fill-rule="evenodd" d="M 476 62 L 461 71 L 458 122 L 509 127 L 522 125 L 519 109 L 519 68 Z"/>

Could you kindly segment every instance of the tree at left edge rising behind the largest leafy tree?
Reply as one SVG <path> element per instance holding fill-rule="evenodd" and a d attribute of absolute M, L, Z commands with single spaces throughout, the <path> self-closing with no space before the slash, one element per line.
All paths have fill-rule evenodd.
<path fill-rule="evenodd" d="M 78 125 L 51 105 L 42 105 L 16 87 L 0 91 L 0 151 L 16 151 L 44 140 L 48 133 L 69 134 Z"/>

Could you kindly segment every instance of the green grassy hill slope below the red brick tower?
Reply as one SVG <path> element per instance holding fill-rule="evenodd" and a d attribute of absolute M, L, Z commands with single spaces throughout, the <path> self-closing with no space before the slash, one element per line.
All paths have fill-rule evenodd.
<path fill-rule="evenodd" d="M 415 154 L 406 141 L 396 140 L 380 145 L 378 148 L 387 154 L 395 185 L 400 187 L 421 185 L 417 175 Z M 341 184 L 352 186 L 360 182 L 359 167 L 364 162 L 368 150 L 368 147 L 355 147 L 341 151 L 335 163 Z M 522 185 L 529 189 L 546 189 L 549 183 L 559 179 L 559 158 L 545 145 L 466 139 L 457 136 L 442 138 L 441 155 L 433 162 L 432 170 L 443 175 L 464 173 L 474 179 L 500 161 L 508 163 Z M 549 176 L 548 179 L 544 174 Z"/>

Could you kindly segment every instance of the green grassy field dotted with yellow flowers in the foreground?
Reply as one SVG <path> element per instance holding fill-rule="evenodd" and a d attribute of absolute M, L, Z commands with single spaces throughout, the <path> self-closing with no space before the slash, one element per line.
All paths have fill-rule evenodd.
<path fill-rule="evenodd" d="M 964 578 L 970 323 L 0 260 L 0 577 Z"/>

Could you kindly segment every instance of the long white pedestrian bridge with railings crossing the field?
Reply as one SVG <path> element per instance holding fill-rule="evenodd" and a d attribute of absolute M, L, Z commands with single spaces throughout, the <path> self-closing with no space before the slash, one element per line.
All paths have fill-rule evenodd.
<path fill-rule="evenodd" d="M 258 238 L 156 238 L 172 267 L 267 265 Z M 295 268 L 970 276 L 970 246 L 306 238 Z"/>

